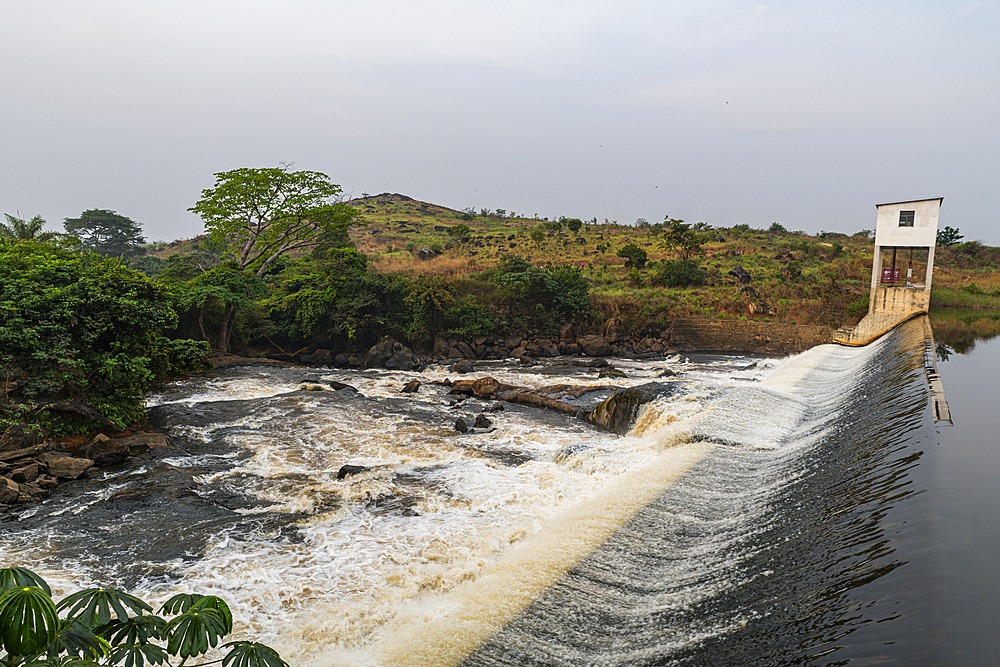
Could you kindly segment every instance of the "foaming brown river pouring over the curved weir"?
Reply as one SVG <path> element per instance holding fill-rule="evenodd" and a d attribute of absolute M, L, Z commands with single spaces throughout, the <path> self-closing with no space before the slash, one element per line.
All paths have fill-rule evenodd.
<path fill-rule="evenodd" d="M 293 665 L 998 664 L 1000 344 L 937 362 L 935 422 L 925 322 L 615 360 L 673 387 L 622 437 L 456 403 L 444 367 L 220 371 L 150 397 L 176 450 L 22 510 L 0 559 L 57 594 L 220 595 Z M 476 375 L 610 384 L 570 361 Z"/>

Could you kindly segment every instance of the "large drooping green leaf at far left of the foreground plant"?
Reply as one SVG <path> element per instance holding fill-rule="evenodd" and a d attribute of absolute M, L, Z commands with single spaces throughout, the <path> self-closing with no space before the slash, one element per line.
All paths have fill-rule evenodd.
<path fill-rule="evenodd" d="M 41 653 L 59 634 L 59 615 L 38 586 L 12 588 L 0 595 L 0 644 L 9 655 Z"/>

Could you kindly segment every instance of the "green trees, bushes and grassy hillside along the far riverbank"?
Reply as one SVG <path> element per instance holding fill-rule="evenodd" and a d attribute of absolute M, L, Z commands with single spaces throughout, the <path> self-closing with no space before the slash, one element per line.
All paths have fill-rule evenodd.
<path fill-rule="evenodd" d="M 868 307 L 871 230 L 546 219 L 340 194 L 287 166 L 222 172 L 191 209 L 206 235 L 141 246 L 138 223 L 113 211 L 67 219 L 62 235 L 8 216 L 0 426 L 123 427 L 142 418 L 144 391 L 210 349 L 295 358 L 392 336 L 420 351 L 441 337 L 601 333 L 612 320 L 637 339 L 677 318 L 836 328 Z M 932 309 L 1000 313 L 1000 249 L 944 233 Z"/>

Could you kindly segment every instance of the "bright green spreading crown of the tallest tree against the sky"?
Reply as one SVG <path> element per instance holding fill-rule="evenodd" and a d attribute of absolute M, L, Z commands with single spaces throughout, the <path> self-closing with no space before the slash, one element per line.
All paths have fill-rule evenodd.
<path fill-rule="evenodd" d="M 290 165 L 241 168 L 215 174 L 189 211 L 205 223 L 213 242 L 231 255 L 238 270 L 263 275 L 281 255 L 314 245 L 323 234 L 346 228 L 357 210 L 341 201 L 339 185 L 317 171 Z"/>

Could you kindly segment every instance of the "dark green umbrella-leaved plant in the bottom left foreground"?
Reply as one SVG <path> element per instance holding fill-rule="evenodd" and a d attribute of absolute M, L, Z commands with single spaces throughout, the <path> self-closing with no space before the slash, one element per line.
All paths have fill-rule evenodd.
<path fill-rule="evenodd" d="M 25 580 L 41 586 L 24 585 Z M 229 606 L 215 596 L 174 596 L 160 609 L 175 615 L 167 621 L 141 599 L 113 589 L 78 591 L 57 604 L 45 581 L 29 570 L 0 569 L 0 582 L 3 667 L 169 666 L 171 656 L 183 665 L 233 631 Z M 221 659 L 224 667 L 288 667 L 263 644 L 236 641 L 223 648 L 229 649 Z"/>

